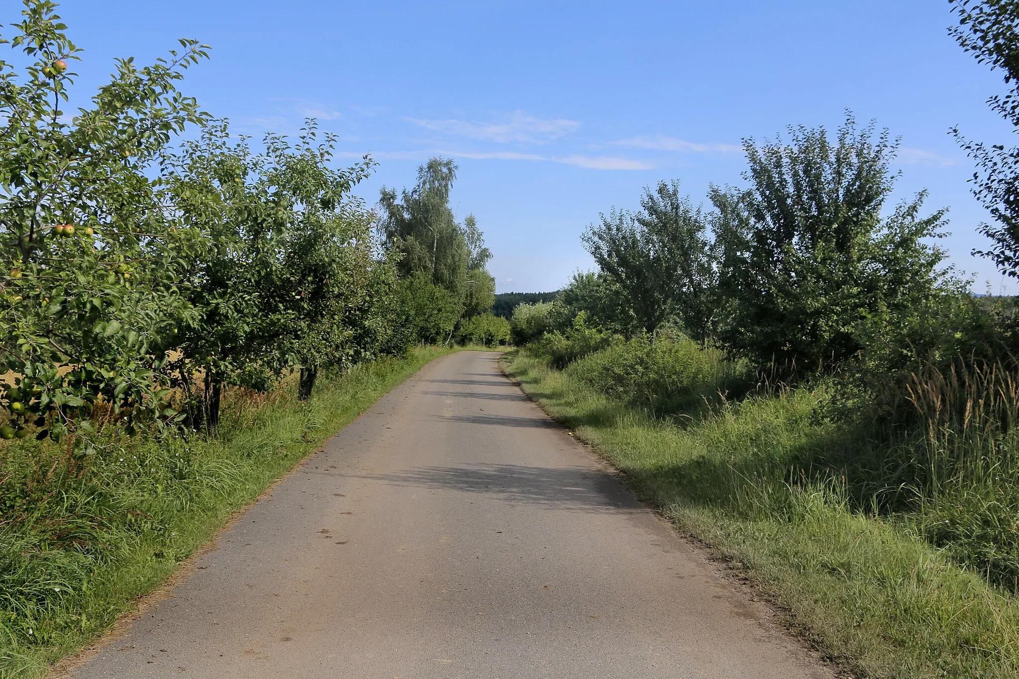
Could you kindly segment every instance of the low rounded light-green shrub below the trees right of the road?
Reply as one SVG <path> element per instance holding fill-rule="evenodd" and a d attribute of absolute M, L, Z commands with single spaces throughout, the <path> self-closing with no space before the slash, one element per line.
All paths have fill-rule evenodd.
<path fill-rule="evenodd" d="M 744 362 L 685 336 L 652 342 L 641 335 L 593 353 L 567 372 L 610 398 L 652 412 L 732 398 L 752 384 Z"/>

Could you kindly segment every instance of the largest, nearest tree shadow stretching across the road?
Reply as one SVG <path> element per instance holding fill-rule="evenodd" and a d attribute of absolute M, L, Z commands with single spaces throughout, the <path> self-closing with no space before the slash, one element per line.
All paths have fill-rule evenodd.
<path fill-rule="evenodd" d="M 528 503 L 595 513 L 640 511 L 640 506 L 610 475 L 581 467 L 481 463 L 463 467 L 415 467 L 403 472 L 358 477 L 397 486 L 491 494 L 511 504 Z"/>

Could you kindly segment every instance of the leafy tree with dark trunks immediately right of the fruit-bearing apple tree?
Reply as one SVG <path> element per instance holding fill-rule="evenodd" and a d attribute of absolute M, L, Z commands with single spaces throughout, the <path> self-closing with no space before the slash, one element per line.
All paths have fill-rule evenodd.
<path fill-rule="evenodd" d="M 163 160 L 167 203 L 192 243 L 180 280 L 187 313 L 177 319 L 164 350 L 177 356 L 167 373 L 184 395 L 194 429 L 215 431 L 229 376 L 281 367 L 271 353 L 268 365 L 262 358 L 268 329 L 284 325 L 266 297 L 274 294 L 277 269 L 272 241 L 287 215 L 282 206 L 261 200 L 255 185 L 259 162 L 247 139 L 232 139 L 222 122 Z M 259 313 L 251 314 L 253 308 Z"/>

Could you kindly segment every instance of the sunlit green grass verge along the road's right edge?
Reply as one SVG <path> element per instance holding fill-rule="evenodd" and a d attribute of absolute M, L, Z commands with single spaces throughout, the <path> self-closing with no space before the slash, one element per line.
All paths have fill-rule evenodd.
<path fill-rule="evenodd" d="M 860 511 L 837 474 L 791 473 L 804 451 L 845 434 L 815 416 L 826 394 L 786 390 L 655 418 L 526 350 L 503 365 L 844 667 L 866 677 L 1019 676 L 1013 595 L 923 540 L 917 517 Z"/>

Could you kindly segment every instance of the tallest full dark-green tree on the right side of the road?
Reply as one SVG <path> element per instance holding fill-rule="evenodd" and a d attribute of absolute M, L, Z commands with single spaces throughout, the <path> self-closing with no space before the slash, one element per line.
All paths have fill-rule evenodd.
<path fill-rule="evenodd" d="M 712 192 L 731 301 L 721 336 L 759 362 L 812 370 L 855 355 L 862 323 L 940 294 L 945 252 L 927 240 L 945 211 L 921 216 L 921 192 L 881 218 L 895 178 L 887 130 L 874 138 L 850 117 L 835 144 L 823 128 L 790 136 L 747 139 L 750 190 Z"/>

